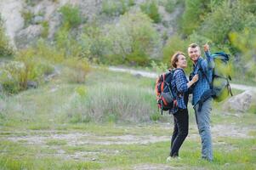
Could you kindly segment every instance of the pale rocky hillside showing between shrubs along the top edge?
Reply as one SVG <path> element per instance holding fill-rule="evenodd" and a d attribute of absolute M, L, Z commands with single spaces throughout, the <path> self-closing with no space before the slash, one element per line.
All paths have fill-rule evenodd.
<path fill-rule="evenodd" d="M 162 37 L 170 37 L 177 30 L 175 20 L 182 13 L 182 8 L 178 6 L 168 13 L 164 3 L 156 2 L 162 20 L 154 24 L 154 27 Z M 62 20 L 60 8 L 65 4 L 79 8 L 82 19 L 87 23 L 97 20 L 104 26 L 117 22 L 120 15 L 106 15 L 103 11 L 104 3 L 103 0 L 1 0 L 0 13 L 11 43 L 15 48 L 24 48 L 42 37 L 42 34 L 48 40 L 54 38 L 54 33 L 60 28 Z M 134 0 L 133 3 L 128 10 L 139 10 L 140 4 L 145 3 L 145 0 Z M 83 24 L 84 22 L 78 26 L 77 31 Z"/>

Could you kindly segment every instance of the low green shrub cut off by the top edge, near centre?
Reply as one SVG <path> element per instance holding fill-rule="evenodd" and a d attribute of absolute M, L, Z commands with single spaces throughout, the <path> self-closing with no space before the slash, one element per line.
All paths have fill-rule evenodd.
<path fill-rule="evenodd" d="M 134 0 L 105 0 L 102 2 L 102 13 L 108 16 L 119 16 L 125 14 L 130 6 L 134 5 Z"/>

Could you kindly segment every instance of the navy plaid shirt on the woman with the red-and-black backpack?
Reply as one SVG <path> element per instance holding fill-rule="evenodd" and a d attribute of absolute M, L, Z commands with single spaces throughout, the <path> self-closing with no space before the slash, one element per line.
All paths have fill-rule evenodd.
<path fill-rule="evenodd" d="M 171 113 L 176 113 L 179 108 L 186 109 L 187 103 L 184 99 L 184 94 L 188 92 L 187 78 L 185 77 L 185 72 L 182 69 L 176 69 L 174 71 L 174 77 L 171 82 L 172 92 L 174 97 L 177 99 L 178 108 L 171 109 Z"/>

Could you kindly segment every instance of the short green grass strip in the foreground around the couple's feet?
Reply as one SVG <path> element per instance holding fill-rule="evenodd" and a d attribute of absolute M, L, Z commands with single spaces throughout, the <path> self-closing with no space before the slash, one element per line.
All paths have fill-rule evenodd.
<path fill-rule="evenodd" d="M 76 152 L 91 153 L 95 152 L 94 161 L 82 161 L 61 159 L 55 156 L 57 150 L 47 150 L 42 146 L 32 146 L 23 143 L 12 143 L 1 140 L 2 154 L 0 165 L 2 169 L 37 169 L 37 167 L 48 167 L 51 169 L 67 169 L 72 166 L 80 169 L 115 168 L 130 169 L 139 164 L 162 164 L 172 167 L 186 168 L 206 168 L 206 169 L 253 169 L 256 167 L 254 162 L 256 150 L 256 139 L 232 139 L 223 138 L 225 143 L 234 146 L 234 150 L 225 150 L 226 144 L 218 145 L 214 148 L 214 161 L 202 161 L 199 159 L 201 144 L 186 140 L 180 150 L 181 160 L 174 160 L 166 163 L 168 156 L 169 142 L 158 142 L 154 144 L 111 144 L 111 145 L 81 145 L 76 147 L 66 147 L 65 144 L 52 143 L 58 145 L 65 153 Z M 214 147 L 214 144 L 213 144 Z M 19 150 L 19 153 L 17 153 Z M 51 157 L 52 155 L 52 157 Z M 89 156 L 88 156 L 89 157 Z M 83 159 L 83 158 L 82 158 Z M 13 163 L 12 163 L 13 162 Z M 44 166 L 44 167 L 43 167 Z M 39 168 L 40 169 L 40 168 Z"/>

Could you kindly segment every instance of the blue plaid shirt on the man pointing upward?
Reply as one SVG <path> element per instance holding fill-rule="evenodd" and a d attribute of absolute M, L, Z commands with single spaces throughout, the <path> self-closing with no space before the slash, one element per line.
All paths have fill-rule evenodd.
<path fill-rule="evenodd" d="M 202 94 L 210 88 L 208 80 L 212 82 L 213 77 L 211 76 L 213 74 L 213 67 L 214 67 L 214 62 L 213 62 L 213 57 L 209 52 L 205 53 L 206 59 L 202 59 L 200 57 L 196 65 L 193 65 L 193 71 L 192 75 L 196 75 L 198 73 L 198 81 L 196 82 L 196 86 L 192 91 L 193 94 L 193 99 L 192 99 L 192 105 L 196 105 L 199 99 L 201 98 Z M 199 71 L 199 63 L 201 63 L 202 70 L 207 75 L 207 78 L 202 74 L 202 71 Z"/>

